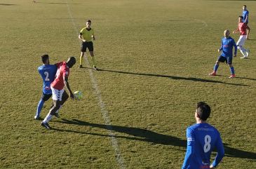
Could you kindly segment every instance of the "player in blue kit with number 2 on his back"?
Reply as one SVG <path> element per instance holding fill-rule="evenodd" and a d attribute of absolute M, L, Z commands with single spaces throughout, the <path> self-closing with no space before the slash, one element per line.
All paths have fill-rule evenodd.
<path fill-rule="evenodd" d="M 50 65 L 49 55 L 42 55 L 41 60 L 43 62 L 43 65 L 38 68 L 38 72 L 43 79 L 43 93 L 36 109 L 36 116 L 34 116 L 34 119 L 36 120 L 40 117 L 41 109 L 43 108 L 44 102 L 49 100 L 52 95 L 50 83 L 52 83 L 55 79 L 55 74 L 57 72 L 56 65 Z"/>

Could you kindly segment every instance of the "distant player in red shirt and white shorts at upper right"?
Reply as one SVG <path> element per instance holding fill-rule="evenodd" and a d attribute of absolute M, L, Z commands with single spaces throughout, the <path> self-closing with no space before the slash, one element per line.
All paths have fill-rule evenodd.
<path fill-rule="evenodd" d="M 233 34 L 235 34 L 236 32 L 240 32 L 240 37 L 236 43 L 236 46 L 243 55 L 243 57 L 241 57 L 241 59 L 247 59 L 249 56 L 249 53 L 250 53 L 249 49 L 243 48 L 243 45 L 245 44 L 245 40 L 246 40 L 246 36 L 247 36 L 247 33 L 246 33 L 247 29 L 248 29 L 248 26 L 245 22 L 243 22 L 243 16 L 239 16 L 238 28 L 233 31 Z"/>

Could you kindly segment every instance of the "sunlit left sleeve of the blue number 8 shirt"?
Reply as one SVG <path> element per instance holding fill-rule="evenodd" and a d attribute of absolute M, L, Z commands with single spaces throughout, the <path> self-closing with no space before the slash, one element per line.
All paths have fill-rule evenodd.
<path fill-rule="evenodd" d="M 184 158 L 182 169 L 187 168 L 187 166 L 191 163 L 191 158 L 193 158 L 194 156 L 194 145 L 195 145 L 194 132 L 193 130 L 191 130 L 191 128 L 187 128 L 187 152 Z"/>

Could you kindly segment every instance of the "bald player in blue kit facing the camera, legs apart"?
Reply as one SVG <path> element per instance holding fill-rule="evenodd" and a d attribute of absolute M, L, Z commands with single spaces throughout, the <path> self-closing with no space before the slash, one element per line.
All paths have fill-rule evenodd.
<path fill-rule="evenodd" d="M 229 78 L 236 77 L 235 69 L 232 65 L 232 60 L 233 60 L 233 47 L 235 48 L 235 52 L 234 52 L 234 58 L 235 58 L 236 52 L 237 52 L 237 46 L 236 46 L 236 42 L 234 41 L 234 39 L 232 39 L 229 36 L 229 34 L 230 34 L 229 30 L 224 31 L 224 38 L 222 39 L 222 46 L 220 47 L 220 49 L 218 49 L 218 52 L 222 51 L 222 54 L 217 59 L 215 65 L 213 67 L 213 72 L 209 74 L 210 76 L 216 76 L 217 69 L 220 65 L 220 62 L 226 62 L 227 65 L 229 65 L 230 72 L 231 72 L 231 75 L 229 76 Z"/>

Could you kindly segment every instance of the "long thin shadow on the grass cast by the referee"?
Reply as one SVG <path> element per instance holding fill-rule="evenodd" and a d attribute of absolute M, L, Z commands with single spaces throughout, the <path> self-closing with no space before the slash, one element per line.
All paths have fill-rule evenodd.
<path fill-rule="evenodd" d="M 199 79 L 199 78 L 194 78 L 194 77 L 180 77 L 180 76 L 170 76 L 170 75 L 161 75 L 161 74 L 143 74 L 143 73 L 115 71 L 115 70 L 108 70 L 108 69 L 99 69 L 99 71 L 114 72 L 114 73 L 119 73 L 119 74 L 134 74 L 134 75 L 138 75 L 138 76 L 155 76 L 155 77 L 163 77 L 163 78 L 174 79 L 174 80 L 200 81 L 200 82 L 208 82 L 208 83 L 223 83 L 223 84 L 234 85 L 234 86 L 248 86 L 248 85 L 243 85 L 243 84 L 225 83 L 223 81 L 215 81 L 215 80 L 209 80 L 209 79 Z"/>

